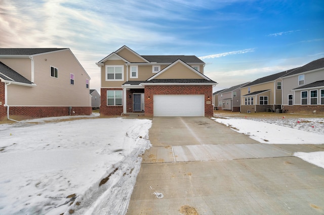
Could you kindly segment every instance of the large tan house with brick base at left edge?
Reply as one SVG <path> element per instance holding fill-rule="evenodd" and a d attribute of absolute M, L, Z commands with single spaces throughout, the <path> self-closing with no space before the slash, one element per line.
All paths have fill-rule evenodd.
<path fill-rule="evenodd" d="M 0 119 L 90 115 L 89 81 L 69 48 L 0 48 Z"/>

